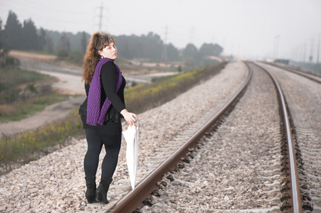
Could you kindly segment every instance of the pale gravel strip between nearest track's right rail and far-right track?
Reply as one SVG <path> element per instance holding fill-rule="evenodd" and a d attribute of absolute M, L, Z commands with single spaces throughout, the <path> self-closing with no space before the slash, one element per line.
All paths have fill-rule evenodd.
<path fill-rule="evenodd" d="M 305 175 L 300 178 L 308 185 L 303 192 L 311 195 L 313 212 L 321 212 L 321 84 L 270 65 L 261 65 L 271 70 L 283 88 L 304 163 Z"/>

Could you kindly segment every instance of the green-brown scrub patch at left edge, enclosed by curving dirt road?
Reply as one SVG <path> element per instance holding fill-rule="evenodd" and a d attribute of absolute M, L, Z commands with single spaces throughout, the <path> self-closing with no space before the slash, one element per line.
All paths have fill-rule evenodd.
<path fill-rule="evenodd" d="M 14 68 L 3 68 L 0 75 L 0 121 L 23 119 L 68 98 L 51 90 L 56 78 Z"/>

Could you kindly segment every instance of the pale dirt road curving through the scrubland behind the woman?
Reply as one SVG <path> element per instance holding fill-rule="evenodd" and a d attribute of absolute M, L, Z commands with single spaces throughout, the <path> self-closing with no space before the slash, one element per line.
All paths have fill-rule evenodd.
<path fill-rule="evenodd" d="M 70 109 L 79 108 L 80 104 L 83 103 L 85 99 L 85 88 L 84 84 L 81 81 L 80 75 L 75 75 L 73 72 L 61 72 L 61 67 L 52 67 L 52 63 L 56 60 L 56 56 L 53 55 L 41 55 L 36 53 L 23 53 L 22 51 L 11 50 L 10 55 L 19 58 L 21 60 L 21 67 L 26 70 L 33 70 L 36 72 L 41 72 L 46 75 L 52 75 L 57 77 L 60 81 L 56 84 L 53 84 L 53 88 L 56 89 L 57 92 L 63 94 L 80 94 L 81 97 L 68 99 L 64 102 L 52 104 L 44 111 L 38 112 L 32 116 L 29 116 L 26 119 L 21 121 L 10 121 L 4 124 L 0 124 L 0 138 L 2 137 L 2 133 L 6 135 L 11 135 L 15 133 L 20 133 L 23 131 L 28 131 L 31 129 L 37 129 L 46 123 L 51 123 L 56 119 L 63 118 L 66 116 Z M 27 66 L 26 62 L 34 62 L 34 66 Z M 40 65 L 41 64 L 41 65 Z M 48 65 L 48 67 L 47 67 Z M 63 66 L 63 68 L 77 68 Z M 153 75 L 140 75 L 140 76 L 126 76 L 127 80 L 137 80 L 142 78 L 142 81 L 150 81 L 152 77 L 162 76 L 162 75 L 174 75 L 176 72 L 164 72 L 157 73 Z"/>

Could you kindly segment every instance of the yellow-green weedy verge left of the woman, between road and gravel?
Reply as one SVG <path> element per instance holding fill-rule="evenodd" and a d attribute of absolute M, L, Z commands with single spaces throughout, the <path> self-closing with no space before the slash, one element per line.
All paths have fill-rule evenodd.
<path fill-rule="evenodd" d="M 60 148 L 70 144 L 73 136 L 84 135 L 83 124 L 78 110 L 73 109 L 64 119 L 46 124 L 41 128 L 19 133 L 14 136 L 3 135 L 0 139 L 0 164 L 6 171 L 11 170 L 12 161 L 28 163 L 48 154 L 48 148 L 59 144 Z"/>

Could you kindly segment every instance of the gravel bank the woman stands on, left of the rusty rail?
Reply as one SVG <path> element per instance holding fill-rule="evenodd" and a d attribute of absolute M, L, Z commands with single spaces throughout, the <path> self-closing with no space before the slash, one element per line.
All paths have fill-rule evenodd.
<path fill-rule="evenodd" d="M 202 82 L 176 99 L 138 115 L 140 124 L 140 161 L 153 155 L 157 148 L 195 123 L 202 114 L 222 102 L 241 86 L 247 68 L 243 62 L 233 62 L 210 80 Z M 123 126 L 126 129 L 127 126 Z M 101 212 L 120 197 L 108 197 L 111 204 L 87 204 L 83 158 L 85 139 L 28 163 L 0 180 L 0 212 Z M 122 143 L 113 185 L 128 179 Z M 103 149 L 104 150 L 104 149 Z M 105 151 L 100 155 L 100 165 Z M 139 178 L 144 178 L 142 175 Z M 100 167 L 97 181 L 100 180 Z M 109 194 L 117 191 L 111 187 Z"/>

